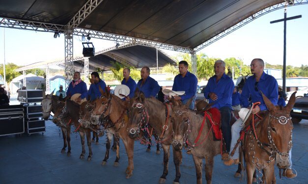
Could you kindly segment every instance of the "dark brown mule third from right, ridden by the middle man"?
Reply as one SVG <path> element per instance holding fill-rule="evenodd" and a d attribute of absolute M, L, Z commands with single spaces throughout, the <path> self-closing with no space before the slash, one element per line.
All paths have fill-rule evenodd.
<path fill-rule="evenodd" d="M 170 145 L 172 144 L 172 124 L 168 120 L 166 124 L 166 106 L 155 98 L 145 98 L 143 92 L 136 90 L 135 100 L 133 106 L 130 108 L 130 122 L 129 127 L 130 136 L 137 138 L 140 130 L 148 124 L 153 127 L 158 135 L 160 135 L 159 142 L 162 144 L 164 150 L 164 171 L 160 177 L 159 183 L 166 182 L 168 175 L 168 161 L 170 155 Z M 168 111 L 171 114 L 172 109 L 168 106 Z M 164 133 L 163 133 L 164 132 Z M 163 136 L 161 136 L 163 135 Z M 172 147 L 173 148 L 173 147 Z M 182 152 L 173 149 L 173 162 L 175 164 L 175 179 L 173 183 L 179 183 L 181 177 L 180 162 Z"/>

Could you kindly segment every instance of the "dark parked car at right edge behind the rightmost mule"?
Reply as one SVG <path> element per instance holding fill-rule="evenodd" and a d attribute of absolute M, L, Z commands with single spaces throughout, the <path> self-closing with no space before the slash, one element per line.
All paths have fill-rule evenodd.
<path fill-rule="evenodd" d="M 293 123 L 299 123 L 302 119 L 308 119 L 308 94 L 296 98 L 290 115 Z"/>

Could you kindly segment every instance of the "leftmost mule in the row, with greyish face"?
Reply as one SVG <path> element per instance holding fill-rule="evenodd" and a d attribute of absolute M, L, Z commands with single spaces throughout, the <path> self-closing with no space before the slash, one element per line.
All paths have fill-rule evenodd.
<path fill-rule="evenodd" d="M 42 113 L 43 113 L 43 118 L 45 120 L 49 120 L 50 113 L 53 112 L 54 115 L 59 115 L 62 112 L 62 109 L 65 104 L 65 99 L 62 98 L 62 94 L 60 96 L 53 95 L 54 92 L 51 94 L 45 95 L 43 93 L 43 100 L 42 100 Z M 69 119 L 67 118 L 65 122 L 67 123 Z M 57 124 L 57 123 L 56 123 Z M 57 124 L 59 125 L 59 124 Z M 70 126 L 59 126 L 62 131 L 62 136 L 63 136 L 63 148 L 61 149 L 61 153 L 65 152 L 66 147 L 68 146 L 68 151 L 67 154 L 71 154 L 71 143 L 70 143 Z"/>

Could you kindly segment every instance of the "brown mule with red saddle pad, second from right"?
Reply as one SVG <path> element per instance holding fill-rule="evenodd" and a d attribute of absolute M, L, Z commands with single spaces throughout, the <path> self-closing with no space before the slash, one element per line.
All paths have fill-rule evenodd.
<path fill-rule="evenodd" d="M 188 146 L 195 145 L 190 152 L 193 155 L 196 167 L 196 183 L 202 183 L 202 160 L 205 159 L 205 179 L 207 184 L 211 184 L 214 156 L 221 153 L 221 141 L 213 140 L 213 132 L 209 128 L 207 118 L 201 129 L 202 115 L 196 115 L 196 112 L 188 109 L 186 105 L 181 105 L 178 102 L 172 103 L 174 105 L 174 112 L 171 116 L 174 132 L 173 147 L 180 151 L 185 144 L 188 144 Z M 197 139 L 199 134 L 200 137 Z"/>

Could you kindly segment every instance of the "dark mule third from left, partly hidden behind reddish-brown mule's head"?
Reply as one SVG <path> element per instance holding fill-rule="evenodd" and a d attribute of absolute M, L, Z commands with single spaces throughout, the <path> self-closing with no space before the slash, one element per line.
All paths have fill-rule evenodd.
<path fill-rule="evenodd" d="M 96 104 L 97 103 L 97 99 L 94 100 L 91 104 L 87 104 L 86 107 L 85 107 L 85 111 L 84 111 L 84 115 L 83 115 L 83 119 L 82 119 L 82 127 L 84 128 L 88 128 L 90 129 L 91 131 L 93 131 L 93 133 L 95 132 L 95 134 L 97 135 L 103 135 L 104 134 L 104 127 L 100 127 L 100 126 L 97 126 L 96 125 L 92 125 L 91 124 L 91 121 L 90 121 L 90 117 L 93 113 L 93 110 L 94 108 L 96 107 Z M 108 119 L 106 119 L 108 120 Z M 106 131 L 106 138 L 107 138 L 107 143 L 106 143 L 106 153 L 105 153 L 105 158 L 104 160 L 102 161 L 102 165 L 105 165 L 109 159 L 109 152 L 110 152 L 110 147 L 111 147 L 111 142 L 112 142 L 112 138 L 114 139 L 113 140 L 113 145 L 112 145 L 112 150 L 113 151 L 116 151 L 117 150 L 117 146 L 119 146 L 119 142 L 118 142 L 118 139 L 116 140 L 114 138 L 114 135 L 112 134 L 112 132 L 114 133 L 113 129 L 110 130 L 108 128 L 108 130 Z M 115 161 L 114 161 L 114 165 L 118 165 L 119 164 L 119 152 L 117 152 L 117 156 L 115 158 Z"/>

